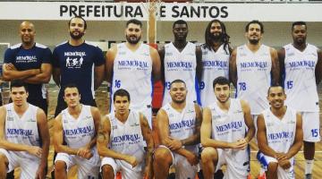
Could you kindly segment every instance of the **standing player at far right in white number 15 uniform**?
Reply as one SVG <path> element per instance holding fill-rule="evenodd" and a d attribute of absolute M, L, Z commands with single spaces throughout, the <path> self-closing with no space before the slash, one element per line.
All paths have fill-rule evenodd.
<path fill-rule="evenodd" d="M 305 178 L 312 178 L 315 142 L 320 141 L 317 84 L 322 79 L 322 53 L 306 43 L 307 25 L 304 21 L 292 23 L 292 44 L 279 52 L 286 105 L 300 112 L 303 118 Z"/>

